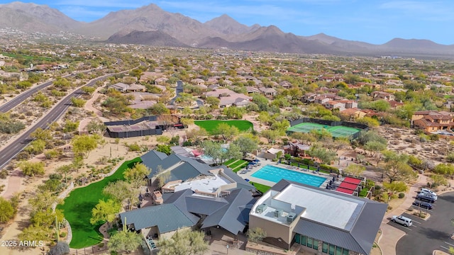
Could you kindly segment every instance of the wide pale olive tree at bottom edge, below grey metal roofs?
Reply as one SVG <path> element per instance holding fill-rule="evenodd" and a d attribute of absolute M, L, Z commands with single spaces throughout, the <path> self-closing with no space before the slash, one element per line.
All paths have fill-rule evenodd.
<path fill-rule="evenodd" d="M 158 255 L 196 255 L 204 254 L 209 245 L 204 239 L 205 234 L 190 229 L 178 230 L 170 239 L 159 239 Z"/>

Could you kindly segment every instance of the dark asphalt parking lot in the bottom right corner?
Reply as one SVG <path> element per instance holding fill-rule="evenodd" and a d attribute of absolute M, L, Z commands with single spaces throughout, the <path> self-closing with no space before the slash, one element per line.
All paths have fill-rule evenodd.
<path fill-rule="evenodd" d="M 449 247 L 454 247 L 454 239 L 450 239 L 450 235 L 454 233 L 454 226 L 450 222 L 454 218 L 454 192 L 441 194 L 434 205 L 435 208 L 429 211 L 431 217 L 428 220 L 404 214 L 416 221 L 412 227 L 406 228 L 389 222 L 389 225 L 406 232 L 397 242 L 397 255 L 429 255 L 436 249 L 448 253 Z"/>

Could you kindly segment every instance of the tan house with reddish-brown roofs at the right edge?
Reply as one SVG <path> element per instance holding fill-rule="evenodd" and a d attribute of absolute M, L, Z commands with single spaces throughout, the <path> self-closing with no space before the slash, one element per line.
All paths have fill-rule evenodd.
<path fill-rule="evenodd" d="M 453 130 L 454 113 L 445 111 L 416 111 L 411 116 L 411 125 L 426 132 Z"/>

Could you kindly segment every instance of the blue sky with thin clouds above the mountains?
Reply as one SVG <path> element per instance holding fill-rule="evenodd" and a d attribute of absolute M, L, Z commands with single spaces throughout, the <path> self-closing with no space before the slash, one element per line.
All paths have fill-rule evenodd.
<path fill-rule="evenodd" d="M 0 0 L 1 4 L 10 1 Z M 94 21 L 110 11 L 156 4 L 205 22 L 226 13 L 251 26 L 275 25 L 286 33 L 325 33 L 345 40 L 382 44 L 393 38 L 454 44 L 453 0 L 35 0 L 77 21 Z"/>

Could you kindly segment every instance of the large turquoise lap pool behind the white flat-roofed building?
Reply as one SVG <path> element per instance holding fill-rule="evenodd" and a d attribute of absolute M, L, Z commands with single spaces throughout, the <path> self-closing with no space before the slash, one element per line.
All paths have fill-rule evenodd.
<path fill-rule="evenodd" d="M 299 183 L 307 184 L 310 186 L 320 187 L 326 178 L 321 176 L 314 176 L 311 174 L 304 174 L 297 171 L 283 169 L 277 166 L 263 166 L 260 170 L 256 171 L 253 175 L 255 178 L 264 179 L 272 182 L 279 182 L 282 179 L 289 181 L 296 181 Z"/>

